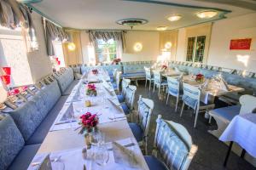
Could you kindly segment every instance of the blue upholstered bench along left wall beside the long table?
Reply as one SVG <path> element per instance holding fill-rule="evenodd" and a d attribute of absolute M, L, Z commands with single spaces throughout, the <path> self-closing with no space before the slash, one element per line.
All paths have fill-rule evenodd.
<path fill-rule="evenodd" d="M 0 170 L 26 170 L 67 97 L 61 96 L 59 84 L 54 80 L 24 105 L 0 113 Z"/>

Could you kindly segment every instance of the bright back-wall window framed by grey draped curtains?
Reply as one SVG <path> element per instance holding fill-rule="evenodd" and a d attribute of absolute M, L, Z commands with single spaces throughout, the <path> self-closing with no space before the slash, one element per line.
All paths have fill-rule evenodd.
<path fill-rule="evenodd" d="M 116 48 L 117 42 L 113 39 L 108 40 L 108 42 L 98 39 L 96 42 L 96 61 L 102 63 L 111 62 L 113 59 L 116 59 Z"/>

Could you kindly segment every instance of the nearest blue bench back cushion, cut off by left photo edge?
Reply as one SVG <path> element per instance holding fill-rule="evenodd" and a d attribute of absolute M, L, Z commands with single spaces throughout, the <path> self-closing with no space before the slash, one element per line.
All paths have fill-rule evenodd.
<path fill-rule="evenodd" d="M 23 148 L 24 139 L 11 116 L 0 120 L 0 169 L 6 169 Z M 18 168 L 19 169 L 19 168 Z"/>

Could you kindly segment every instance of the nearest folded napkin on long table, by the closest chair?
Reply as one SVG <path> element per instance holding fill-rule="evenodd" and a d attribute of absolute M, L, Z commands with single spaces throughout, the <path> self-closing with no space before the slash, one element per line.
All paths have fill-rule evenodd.
<path fill-rule="evenodd" d="M 132 150 L 129 150 L 125 146 L 122 146 L 116 142 L 113 142 L 112 145 L 113 158 L 115 163 L 125 165 L 125 167 L 140 167 L 140 163 L 137 161 L 137 155 Z"/>

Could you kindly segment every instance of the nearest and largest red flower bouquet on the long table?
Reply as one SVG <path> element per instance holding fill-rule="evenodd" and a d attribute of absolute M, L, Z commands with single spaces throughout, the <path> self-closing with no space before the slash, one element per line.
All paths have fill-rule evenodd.
<path fill-rule="evenodd" d="M 97 126 L 98 122 L 99 118 L 96 114 L 91 114 L 90 112 L 85 113 L 80 116 L 79 124 L 82 126 L 82 129 L 79 133 L 83 134 L 85 131 L 90 133 L 92 129 Z"/>

